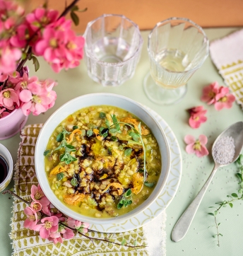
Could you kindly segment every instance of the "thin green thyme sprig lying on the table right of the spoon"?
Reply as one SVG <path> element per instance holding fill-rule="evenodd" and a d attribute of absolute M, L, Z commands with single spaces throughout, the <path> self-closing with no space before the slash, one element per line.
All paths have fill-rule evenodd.
<path fill-rule="evenodd" d="M 228 200 L 224 200 L 223 202 L 215 203 L 215 204 L 219 204 L 218 207 L 215 207 L 215 206 L 208 207 L 208 208 L 215 208 L 215 211 L 208 213 L 208 215 L 211 215 L 214 217 L 215 226 L 209 226 L 208 228 L 211 228 L 211 227 L 216 228 L 216 233 L 213 235 L 213 238 L 217 238 L 218 247 L 220 246 L 220 236 L 223 236 L 219 232 L 220 223 L 218 222 L 217 217 L 216 217 L 218 212 L 220 211 L 220 209 L 222 209 L 223 207 L 226 207 L 227 205 L 229 205 L 230 208 L 232 208 L 233 207 L 232 202 L 243 199 L 243 155 L 242 154 L 239 155 L 239 158 L 237 158 L 237 161 L 235 161 L 235 163 L 237 164 L 237 168 L 238 168 L 238 173 L 236 173 L 236 176 L 239 179 L 239 186 L 240 186 L 238 192 L 227 195 L 227 197 L 229 198 Z"/>

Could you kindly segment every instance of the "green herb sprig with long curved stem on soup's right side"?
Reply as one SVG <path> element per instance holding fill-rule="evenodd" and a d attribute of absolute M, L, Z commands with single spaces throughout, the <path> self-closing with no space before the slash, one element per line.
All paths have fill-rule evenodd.
<path fill-rule="evenodd" d="M 109 124 L 109 120 L 105 120 L 105 124 L 107 125 L 110 133 L 112 133 L 112 134 L 116 133 L 116 132 L 121 133 L 120 124 L 125 124 L 125 125 L 131 127 L 131 129 L 133 129 L 133 131 L 134 131 L 134 132 L 129 132 L 129 136 L 131 136 L 132 139 L 134 140 L 132 142 L 143 146 L 143 163 L 144 163 L 143 182 L 146 182 L 146 147 L 143 143 L 141 122 L 138 124 L 138 130 L 137 130 L 131 124 L 128 124 L 126 122 L 119 122 L 117 120 L 116 115 L 111 115 L 111 117 L 112 117 L 112 122 L 113 122 L 112 125 Z M 131 149 L 126 149 L 124 151 L 125 156 L 129 156 L 130 154 L 131 154 Z"/>

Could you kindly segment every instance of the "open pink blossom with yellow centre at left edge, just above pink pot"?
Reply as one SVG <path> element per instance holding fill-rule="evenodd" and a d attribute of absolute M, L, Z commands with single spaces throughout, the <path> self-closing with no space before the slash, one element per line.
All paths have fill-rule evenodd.
<path fill-rule="evenodd" d="M 5 89 L 0 92 L 0 104 L 6 107 L 8 110 L 13 110 L 15 104 L 20 105 L 18 95 L 13 89 Z"/>

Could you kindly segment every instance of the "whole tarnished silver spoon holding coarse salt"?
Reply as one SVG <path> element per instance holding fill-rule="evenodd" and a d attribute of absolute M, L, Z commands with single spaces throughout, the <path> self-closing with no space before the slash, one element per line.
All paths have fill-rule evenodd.
<path fill-rule="evenodd" d="M 200 192 L 198 192 L 195 199 L 174 225 L 172 230 L 172 240 L 174 242 L 182 240 L 186 235 L 186 232 L 189 230 L 189 226 L 194 219 L 198 206 L 200 205 L 201 200 L 203 199 L 203 196 L 218 168 L 235 162 L 242 151 L 242 146 L 243 122 L 236 122 L 235 124 L 232 124 L 230 127 L 225 129 L 217 139 L 215 139 L 212 147 L 213 161 L 215 163 L 213 171 L 201 188 Z"/>

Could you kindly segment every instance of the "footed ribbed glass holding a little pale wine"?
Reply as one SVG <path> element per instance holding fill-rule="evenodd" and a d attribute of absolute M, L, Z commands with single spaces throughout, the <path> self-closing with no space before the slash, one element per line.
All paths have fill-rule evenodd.
<path fill-rule="evenodd" d="M 179 103 L 186 83 L 208 57 L 208 38 L 203 29 L 187 18 L 168 18 L 148 35 L 150 72 L 143 88 L 160 105 Z"/>

